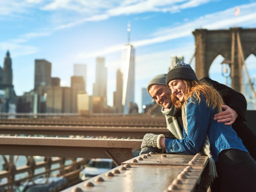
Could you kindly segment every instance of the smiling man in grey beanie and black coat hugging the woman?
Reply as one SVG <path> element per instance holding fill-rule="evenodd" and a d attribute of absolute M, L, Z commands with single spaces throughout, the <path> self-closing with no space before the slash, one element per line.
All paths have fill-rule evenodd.
<path fill-rule="evenodd" d="M 247 102 L 241 93 L 231 89 L 230 87 L 213 81 L 208 77 L 204 77 L 199 81 L 205 81 L 212 84 L 216 90 L 219 91 L 223 98 L 225 111 L 217 113 L 214 120 L 217 122 L 226 122 L 225 125 L 231 125 L 236 131 L 238 137 L 241 138 L 244 146 L 250 152 L 250 155 L 256 160 L 256 135 L 243 123 L 244 115 L 246 113 Z M 170 99 L 171 90 L 166 86 L 166 74 L 159 74 L 155 76 L 148 83 L 148 93 L 162 106 L 162 113 L 165 115 L 167 129 L 170 131 L 169 138 L 183 138 L 183 122 L 181 112 L 178 110 Z M 149 151 L 161 152 L 158 148 L 143 148 L 141 153 Z"/>

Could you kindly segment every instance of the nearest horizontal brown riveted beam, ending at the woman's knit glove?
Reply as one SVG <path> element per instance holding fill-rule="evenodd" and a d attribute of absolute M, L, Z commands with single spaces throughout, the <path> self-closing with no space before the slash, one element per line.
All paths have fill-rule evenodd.
<path fill-rule="evenodd" d="M 140 148 L 140 139 L 0 136 L 0 155 L 109 158 L 109 148 Z"/>

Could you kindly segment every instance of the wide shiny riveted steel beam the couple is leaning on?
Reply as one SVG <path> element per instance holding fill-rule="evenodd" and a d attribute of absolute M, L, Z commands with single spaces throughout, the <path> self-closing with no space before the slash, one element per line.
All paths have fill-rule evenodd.
<path fill-rule="evenodd" d="M 62 192 L 76 191 L 183 191 L 198 190 L 208 156 L 143 154 L 106 173 Z"/>

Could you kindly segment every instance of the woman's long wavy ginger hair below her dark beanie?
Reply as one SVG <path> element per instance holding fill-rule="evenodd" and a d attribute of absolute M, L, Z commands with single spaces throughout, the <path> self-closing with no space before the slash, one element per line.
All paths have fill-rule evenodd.
<path fill-rule="evenodd" d="M 210 84 L 205 82 L 191 81 L 191 80 L 182 80 L 186 85 L 186 91 L 184 94 L 184 101 L 187 101 L 189 98 L 194 97 L 200 103 L 201 99 L 200 94 L 204 95 L 206 99 L 206 104 L 212 109 L 217 107 L 218 111 L 221 112 L 223 105 L 223 99 L 218 93 L 218 91 Z M 196 95 L 194 95 L 194 93 Z M 182 103 L 175 95 L 171 95 L 172 103 L 175 107 L 181 108 Z"/>

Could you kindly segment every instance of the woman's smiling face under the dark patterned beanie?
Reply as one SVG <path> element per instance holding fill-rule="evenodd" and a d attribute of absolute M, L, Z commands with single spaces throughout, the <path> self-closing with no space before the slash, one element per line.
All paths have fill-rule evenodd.
<path fill-rule="evenodd" d="M 174 79 L 168 84 L 172 94 L 176 96 L 181 102 L 184 101 L 184 95 L 186 91 L 186 84 L 180 79 Z"/>

